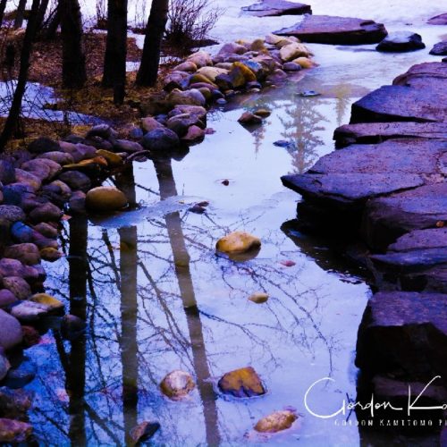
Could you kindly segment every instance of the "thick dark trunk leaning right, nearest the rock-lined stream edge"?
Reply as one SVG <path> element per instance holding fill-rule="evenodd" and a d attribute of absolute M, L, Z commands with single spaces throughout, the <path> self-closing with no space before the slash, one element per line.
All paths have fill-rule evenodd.
<path fill-rule="evenodd" d="M 143 55 L 137 74 L 137 85 L 153 86 L 156 83 L 168 8 L 169 0 L 153 0 L 152 2 L 146 27 Z"/>

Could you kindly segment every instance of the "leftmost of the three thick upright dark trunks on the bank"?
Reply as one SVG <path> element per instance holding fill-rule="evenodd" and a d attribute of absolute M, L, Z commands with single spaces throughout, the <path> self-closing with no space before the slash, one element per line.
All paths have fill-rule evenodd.
<path fill-rule="evenodd" d="M 78 0 L 59 0 L 58 10 L 61 12 L 63 87 L 80 89 L 87 80 L 80 4 Z"/>

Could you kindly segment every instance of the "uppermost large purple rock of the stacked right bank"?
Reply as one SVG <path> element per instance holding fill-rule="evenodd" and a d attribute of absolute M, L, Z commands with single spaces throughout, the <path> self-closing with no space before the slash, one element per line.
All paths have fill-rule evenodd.
<path fill-rule="evenodd" d="M 444 122 L 447 116 L 445 63 L 421 63 L 352 105 L 350 122 Z M 434 107 L 434 104 L 436 105 Z"/>

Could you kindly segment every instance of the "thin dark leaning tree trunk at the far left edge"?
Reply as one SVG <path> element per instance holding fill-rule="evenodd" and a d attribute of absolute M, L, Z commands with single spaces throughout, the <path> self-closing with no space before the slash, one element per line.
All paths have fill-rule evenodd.
<path fill-rule="evenodd" d="M 28 21 L 25 37 L 21 46 L 21 68 L 19 78 L 14 91 L 13 104 L 9 110 L 8 117 L 4 123 L 4 129 L 0 135 L 0 152 L 4 149 L 8 139 L 11 138 L 18 124 L 19 115 L 21 114 L 21 99 L 25 93 L 28 72 L 30 70 L 30 55 L 34 38 L 36 37 L 36 25 L 38 23 L 38 9 L 40 1 L 33 0 L 31 6 L 30 20 Z"/>

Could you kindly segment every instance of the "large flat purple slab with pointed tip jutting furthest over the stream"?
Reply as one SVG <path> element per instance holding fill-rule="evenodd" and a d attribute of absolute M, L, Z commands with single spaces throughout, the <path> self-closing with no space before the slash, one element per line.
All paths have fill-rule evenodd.
<path fill-rule="evenodd" d="M 444 157 L 444 141 L 389 139 L 332 152 L 320 158 L 308 173 L 286 175 L 282 180 L 284 186 L 322 206 L 328 201 L 358 206 L 356 202 L 443 178 Z"/>

